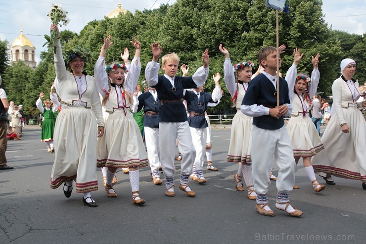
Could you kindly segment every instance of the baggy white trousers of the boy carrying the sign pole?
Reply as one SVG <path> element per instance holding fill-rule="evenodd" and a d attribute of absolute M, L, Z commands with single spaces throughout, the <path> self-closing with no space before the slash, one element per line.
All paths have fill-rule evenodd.
<path fill-rule="evenodd" d="M 279 167 L 276 188 L 280 192 L 292 191 L 295 182 L 295 159 L 285 126 L 278 130 L 252 127 L 252 173 L 257 194 L 267 194 L 273 157 Z"/>

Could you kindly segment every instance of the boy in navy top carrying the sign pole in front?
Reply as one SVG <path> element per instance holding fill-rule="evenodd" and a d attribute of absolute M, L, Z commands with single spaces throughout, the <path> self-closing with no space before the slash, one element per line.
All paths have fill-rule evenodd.
<path fill-rule="evenodd" d="M 277 200 L 275 207 L 290 216 L 300 217 L 302 211 L 291 206 L 289 192 L 295 182 L 295 159 L 292 145 L 284 126 L 283 118 L 291 114 L 286 81 L 279 77 L 279 92 L 276 90 L 277 50 L 264 47 L 258 52 L 258 62 L 265 68 L 248 86 L 241 111 L 253 117 L 252 129 L 252 172 L 257 194 L 257 210 L 260 214 L 274 216 L 268 206 L 269 175 L 274 156 L 279 167 L 276 180 Z M 279 58 L 279 65 L 280 65 Z M 279 106 L 277 107 L 277 96 Z"/>

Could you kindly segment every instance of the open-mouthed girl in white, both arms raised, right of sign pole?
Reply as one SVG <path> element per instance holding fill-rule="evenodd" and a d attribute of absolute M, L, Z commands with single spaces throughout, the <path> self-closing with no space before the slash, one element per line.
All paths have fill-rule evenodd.
<path fill-rule="evenodd" d="M 292 143 L 295 162 L 297 164 L 300 157 L 303 158 L 306 174 L 313 184 L 314 191 L 318 193 L 324 190 L 325 186 L 320 185 L 315 177 L 311 157 L 324 149 L 324 146 L 321 143 L 317 128 L 309 117 L 309 101 L 316 94 L 319 84 L 318 63 L 320 54 L 312 56 L 314 70 L 311 78 L 303 73 L 297 73 L 296 66 L 303 55 L 300 55 L 300 50 L 294 49 L 294 63 L 285 77 L 292 105 L 287 131 Z"/>

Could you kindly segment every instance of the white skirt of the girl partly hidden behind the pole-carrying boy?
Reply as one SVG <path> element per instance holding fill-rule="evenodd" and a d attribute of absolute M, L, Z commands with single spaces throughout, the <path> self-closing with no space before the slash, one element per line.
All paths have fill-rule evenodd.
<path fill-rule="evenodd" d="M 237 110 L 231 125 L 230 145 L 227 161 L 251 163 L 253 118 Z"/>

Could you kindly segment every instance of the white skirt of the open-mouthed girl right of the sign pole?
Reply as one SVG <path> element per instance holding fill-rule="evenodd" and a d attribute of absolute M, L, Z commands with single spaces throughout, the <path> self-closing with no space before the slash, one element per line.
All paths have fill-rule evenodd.
<path fill-rule="evenodd" d="M 287 124 L 287 131 L 292 143 L 294 156 L 312 157 L 322 149 L 317 128 L 310 117 L 291 117 Z"/>

